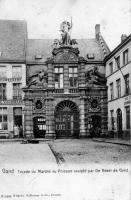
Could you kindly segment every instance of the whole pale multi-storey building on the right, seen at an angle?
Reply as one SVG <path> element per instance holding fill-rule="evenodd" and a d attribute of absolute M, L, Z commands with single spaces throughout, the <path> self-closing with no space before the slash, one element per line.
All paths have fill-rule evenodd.
<path fill-rule="evenodd" d="M 131 35 L 105 58 L 108 86 L 108 130 L 117 138 L 131 138 Z"/>

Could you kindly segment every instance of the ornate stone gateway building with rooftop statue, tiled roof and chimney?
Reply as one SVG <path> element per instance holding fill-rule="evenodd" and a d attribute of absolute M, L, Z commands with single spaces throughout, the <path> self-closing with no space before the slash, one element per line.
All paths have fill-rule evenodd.
<path fill-rule="evenodd" d="M 61 39 L 29 40 L 33 50 L 28 47 L 27 86 L 23 88 L 26 138 L 107 134 L 103 60 L 109 48 L 100 25 L 95 27 L 94 39 L 71 39 L 71 29 L 72 24 L 64 21 Z"/>

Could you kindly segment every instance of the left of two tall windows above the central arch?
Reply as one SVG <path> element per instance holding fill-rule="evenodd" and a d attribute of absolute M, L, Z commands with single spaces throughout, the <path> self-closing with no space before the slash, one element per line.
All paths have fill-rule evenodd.
<path fill-rule="evenodd" d="M 63 88 L 63 67 L 55 67 L 55 88 Z"/>

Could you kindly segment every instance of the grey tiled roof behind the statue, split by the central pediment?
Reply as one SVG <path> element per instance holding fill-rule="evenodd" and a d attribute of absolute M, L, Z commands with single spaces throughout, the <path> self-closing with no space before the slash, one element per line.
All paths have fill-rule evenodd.
<path fill-rule="evenodd" d="M 28 39 L 27 42 L 27 62 L 44 62 L 48 57 L 51 57 L 53 50 L 53 39 Z M 78 47 L 80 56 L 87 59 L 87 54 L 94 54 L 95 61 L 104 59 L 104 54 L 96 39 L 78 39 Z M 42 59 L 35 59 L 35 56 L 42 56 Z"/>

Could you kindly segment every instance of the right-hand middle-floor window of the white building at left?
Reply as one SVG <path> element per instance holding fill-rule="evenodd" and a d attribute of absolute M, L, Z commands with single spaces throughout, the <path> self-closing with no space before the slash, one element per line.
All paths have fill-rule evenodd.
<path fill-rule="evenodd" d="M 13 99 L 22 99 L 21 83 L 13 83 Z"/>

